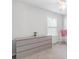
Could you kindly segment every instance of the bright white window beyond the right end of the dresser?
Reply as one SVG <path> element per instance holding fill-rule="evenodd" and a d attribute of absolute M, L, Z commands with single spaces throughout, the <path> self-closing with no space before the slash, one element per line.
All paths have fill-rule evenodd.
<path fill-rule="evenodd" d="M 48 17 L 48 35 L 57 36 L 57 19 Z"/>

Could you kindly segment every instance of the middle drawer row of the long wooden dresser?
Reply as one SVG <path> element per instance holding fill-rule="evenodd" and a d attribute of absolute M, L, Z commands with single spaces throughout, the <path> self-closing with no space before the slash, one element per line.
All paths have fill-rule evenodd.
<path fill-rule="evenodd" d="M 51 42 L 52 42 L 51 40 L 45 40 L 45 41 L 42 41 L 42 42 L 17 47 L 16 50 L 17 50 L 17 52 L 22 52 L 22 51 L 25 51 L 25 50 L 37 48 L 37 47 L 45 45 L 45 44 L 49 44 Z"/>

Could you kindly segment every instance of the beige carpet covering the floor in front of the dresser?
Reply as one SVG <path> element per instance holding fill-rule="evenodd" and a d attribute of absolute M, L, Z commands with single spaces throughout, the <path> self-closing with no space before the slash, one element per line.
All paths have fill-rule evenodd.
<path fill-rule="evenodd" d="M 51 49 L 24 57 L 23 59 L 67 59 L 67 46 L 65 44 L 56 44 Z"/>

